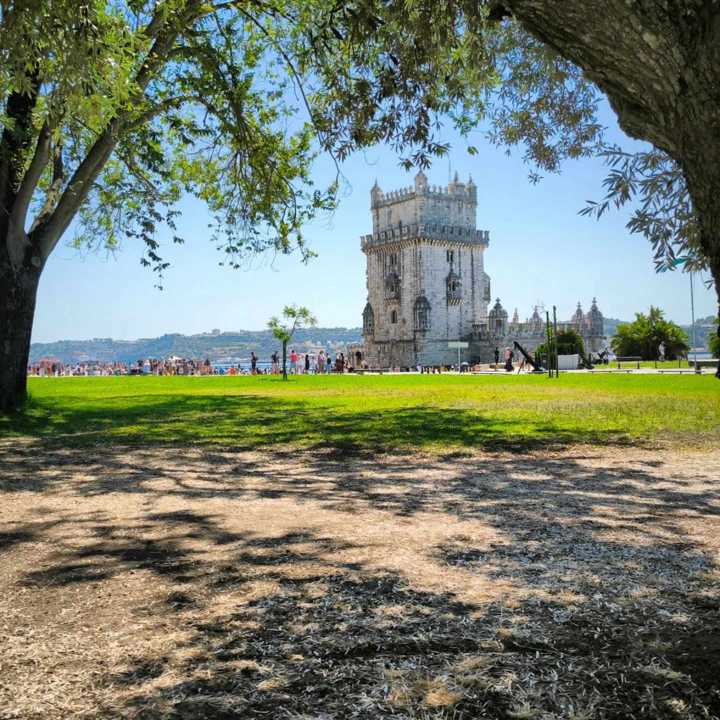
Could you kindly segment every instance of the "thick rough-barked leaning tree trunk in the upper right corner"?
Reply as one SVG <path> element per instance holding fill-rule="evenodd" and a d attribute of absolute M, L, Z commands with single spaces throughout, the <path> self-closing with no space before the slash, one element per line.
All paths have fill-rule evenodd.
<path fill-rule="evenodd" d="M 720 306 L 720 3 L 490 0 L 490 6 L 491 17 L 512 14 L 580 66 L 626 133 L 677 161 Z"/>

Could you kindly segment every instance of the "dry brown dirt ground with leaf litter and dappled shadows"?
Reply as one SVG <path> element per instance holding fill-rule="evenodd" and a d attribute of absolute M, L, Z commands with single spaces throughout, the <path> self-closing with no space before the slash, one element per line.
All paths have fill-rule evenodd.
<path fill-rule="evenodd" d="M 0 718 L 720 716 L 720 453 L 0 446 Z"/>

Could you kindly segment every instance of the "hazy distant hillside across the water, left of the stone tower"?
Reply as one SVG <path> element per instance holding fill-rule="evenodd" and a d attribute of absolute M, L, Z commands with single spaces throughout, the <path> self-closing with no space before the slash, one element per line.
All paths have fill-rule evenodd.
<path fill-rule="evenodd" d="M 328 350 L 343 350 L 348 343 L 361 339 L 359 327 L 317 327 L 299 330 L 295 333 L 292 345 L 305 350 L 313 345 Z M 318 345 L 319 343 L 319 345 Z M 138 340 L 114 340 L 111 337 L 91 340 L 59 340 L 58 342 L 34 342 L 30 346 L 30 362 L 37 363 L 42 357 L 58 357 L 63 362 L 78 360 L 79 354 L 88 354 L 93 360 L 120 360 L 134 362 L 139 357 L 210 357 L 220 360 L 222 357 L 250 357 L 254 351 L 261 360 L 269 360 L 273 350 L 281 350 L 282 345 L 272 337 L 269 330 L 238 330 L 223 332 L 219 335 L 199 334 L 181 335 L 171 333 L 162 337 Z"/>

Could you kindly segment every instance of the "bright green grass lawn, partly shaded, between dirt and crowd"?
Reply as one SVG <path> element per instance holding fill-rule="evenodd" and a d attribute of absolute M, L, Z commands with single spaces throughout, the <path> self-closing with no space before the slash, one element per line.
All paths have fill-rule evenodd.
<path fill-rule="evenodd" d="M 382 375 L 32 378 L 0 437 L 278 448 L 710 447 L 720 382 L 709 375 Z"/>

